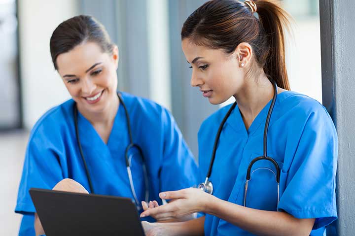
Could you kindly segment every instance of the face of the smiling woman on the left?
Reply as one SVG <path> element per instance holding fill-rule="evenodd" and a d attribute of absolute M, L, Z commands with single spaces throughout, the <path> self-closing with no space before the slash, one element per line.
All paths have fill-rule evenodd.
<path fill-rule="evenodd" d="M 114 117 L 118 109 L 117 46 L 107 54 L 97 43 L 88 41 L 60 54 L 56 63 L 58 73 L 81 114 L 92 121 L 103 114 L 103 117 Z M 106 124 L 112 124 L 112 121 L 106 120 Z M 108 134 L 102 134 L 105 142 Z"/>

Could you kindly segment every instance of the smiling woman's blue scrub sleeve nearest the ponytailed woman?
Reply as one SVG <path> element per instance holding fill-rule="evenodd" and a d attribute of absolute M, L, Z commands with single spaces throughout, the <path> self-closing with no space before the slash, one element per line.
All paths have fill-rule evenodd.
<path fill-rule="evenodd" d="M 197 165 L 172 115 L 162 110 L 163 159 L 161 191 L 196 187 Z"/>

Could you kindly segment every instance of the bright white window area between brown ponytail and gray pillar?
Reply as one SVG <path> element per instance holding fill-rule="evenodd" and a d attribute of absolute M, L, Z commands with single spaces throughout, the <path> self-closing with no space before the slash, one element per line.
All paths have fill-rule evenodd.
<path fill-rule="evenodd" d="M 286 35 L 286 66 L 291 90 L 320 103 L 320 19 L 318 0 L 284 0 L 291 14 L 291 35 Z"/>

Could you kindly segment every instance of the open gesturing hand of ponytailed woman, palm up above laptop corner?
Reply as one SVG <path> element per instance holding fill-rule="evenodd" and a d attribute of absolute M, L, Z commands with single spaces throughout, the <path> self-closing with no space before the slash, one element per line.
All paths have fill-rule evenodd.
<path fill-rule="evenodd" d="M 188 188 L 178 191 L 162 192 L 159 194 L 159 197 L 172 201 L 165 205 L 144 209 L 141 217 L 152 216 L 162 221 L 205 211 L 207 202 L 212 195 L 205 193 L 201 189 Z"/>

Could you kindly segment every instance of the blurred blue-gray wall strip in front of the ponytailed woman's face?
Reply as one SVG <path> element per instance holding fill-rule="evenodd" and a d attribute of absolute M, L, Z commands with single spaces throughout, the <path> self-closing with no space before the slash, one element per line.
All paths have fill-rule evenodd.
<path fill-rule="evenodd" d="M 219 106 L 210 104 L 202 97 L 198 88 L 190 86 L 191 69 L 181 50 L 180 33 L 186 18 L 205 1 L 169 0 L 173 115 L 196 157 L 198 157 L 197 132 L 201 123 Z"/>

